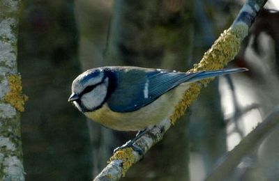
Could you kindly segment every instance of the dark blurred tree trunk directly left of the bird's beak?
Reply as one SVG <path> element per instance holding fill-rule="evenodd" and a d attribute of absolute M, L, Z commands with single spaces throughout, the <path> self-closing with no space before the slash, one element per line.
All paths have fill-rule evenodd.
<path fill-rule="evenodd" d="M 29 95 L 22 115 L 27 180 L 91 180 L 84 116 L 68 103 L 80 74 L 74 1 L 24 1 L 19 68 Z"/>

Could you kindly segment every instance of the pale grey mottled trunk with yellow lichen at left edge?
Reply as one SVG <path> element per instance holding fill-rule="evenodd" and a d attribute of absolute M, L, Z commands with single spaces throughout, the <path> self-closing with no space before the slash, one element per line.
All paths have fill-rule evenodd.
<path fill-rule="evenodd" d="M 20 136 L 24 97 L 18 97 L 22 85 L 17 73 L 19 11 L 20 1 L 0 1 L 0 180 L 12 181 L 24 180 Z"/>

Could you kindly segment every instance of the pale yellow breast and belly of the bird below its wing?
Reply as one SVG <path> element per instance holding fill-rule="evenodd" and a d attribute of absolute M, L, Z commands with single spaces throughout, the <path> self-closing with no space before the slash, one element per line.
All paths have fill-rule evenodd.
<path fill-rule="evenodd" d="M 120 131 L 142 130 L 148 126 L 156 125 L 165 118 L 169 118 L 188 87 L 188 84 L 185 84 L 185 86 L 174 88 L 137 111 L 128 113 L 114 112 L 107 104 L 104 104 L 100 109 L 84 114 L 111 129 Z"/>

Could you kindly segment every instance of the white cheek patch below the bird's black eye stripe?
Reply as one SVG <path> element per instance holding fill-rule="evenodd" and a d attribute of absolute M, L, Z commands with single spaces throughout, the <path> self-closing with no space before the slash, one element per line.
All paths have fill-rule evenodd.
<path fill-rule="evenodd" d="M 105 84 L 100 84 L 99 86 L 94 88 L 93 91 L 82 95 L 82 104 L 84 104 L 84 107 L 86 107 L 86 109 L 96 109 L 96 107 L 99 107 L 103 103 L 106 95 L 107 86 Z"/>

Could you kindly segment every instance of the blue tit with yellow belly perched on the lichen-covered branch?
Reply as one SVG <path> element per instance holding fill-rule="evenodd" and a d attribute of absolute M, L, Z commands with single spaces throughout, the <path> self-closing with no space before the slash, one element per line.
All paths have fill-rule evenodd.
<path fill-rule="evenodd" d="M 139 131 L 138 139 L 147 129 L 172 115 L 191 83 L 246 70 L 178 72 L 128 66 L 93 68 L 74 79 L 68 102 L 104 127 Z"/>

